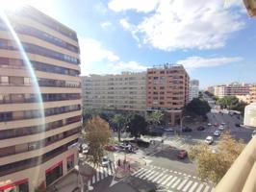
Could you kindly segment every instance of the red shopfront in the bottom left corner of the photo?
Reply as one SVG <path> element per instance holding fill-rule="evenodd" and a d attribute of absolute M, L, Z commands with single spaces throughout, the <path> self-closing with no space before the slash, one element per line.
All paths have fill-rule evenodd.
<path fill-rule="evenodd" d="M 18 180 L 13 183 L 0 186 L 0 192 L 29 192 L 29 181 Z"/>

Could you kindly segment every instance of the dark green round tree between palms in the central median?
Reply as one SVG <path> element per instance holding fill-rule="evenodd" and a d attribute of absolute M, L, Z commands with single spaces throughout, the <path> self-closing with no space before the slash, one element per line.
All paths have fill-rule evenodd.
<path fill-rule="evenodd" d="M 144 117 L 139 114 L 135 114 L 130 120 L 128 131 L 131 132 L 132 136 L 138 138 L 141 136 L 141 134 L 144 134 L 146 132 L 146 126 L 147 123 Z"/>

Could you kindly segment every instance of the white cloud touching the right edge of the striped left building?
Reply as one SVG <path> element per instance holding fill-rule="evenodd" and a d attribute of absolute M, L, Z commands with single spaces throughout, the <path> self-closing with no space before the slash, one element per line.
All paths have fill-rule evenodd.
<path fill-rule="evenodd" d="M 119 60 L 114 52 L 104 48 L 100 41 L 93 38 L 79 37 L 81 74 L 90 73 L 90 66 L 99 61 L 113 62 Z"/>

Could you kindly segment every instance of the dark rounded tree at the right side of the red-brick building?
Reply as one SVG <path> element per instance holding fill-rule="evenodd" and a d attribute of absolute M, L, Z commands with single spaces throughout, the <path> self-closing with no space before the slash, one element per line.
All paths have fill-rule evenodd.
<path fill-rule="evenodd" d="M 185 110 L 189 113 L 205 116 L 207 112 L 211 110 L 208 102 L 200 100 L 198 98 L 192 99 L 192 101 L 186 106 Z"/>

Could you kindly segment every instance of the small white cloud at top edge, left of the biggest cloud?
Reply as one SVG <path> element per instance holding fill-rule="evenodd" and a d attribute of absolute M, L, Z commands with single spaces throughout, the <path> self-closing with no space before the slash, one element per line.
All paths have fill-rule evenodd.
<path fill-rule="evenodd" d="M 108 6 L 114 12 L 135 10 L 136 12 L 153 11 L 159 0 L 112 0 Z"/>

